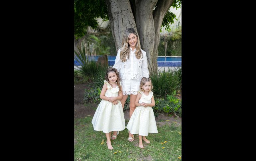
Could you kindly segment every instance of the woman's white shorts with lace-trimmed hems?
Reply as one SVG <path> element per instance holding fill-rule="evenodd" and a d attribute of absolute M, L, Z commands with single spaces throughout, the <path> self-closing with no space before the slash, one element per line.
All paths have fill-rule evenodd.
<path fill-rule="evenodd" d="M 137 95 L 140 89 L 140 80 L 120 79 L 122 83 L 123 95 Z"/>

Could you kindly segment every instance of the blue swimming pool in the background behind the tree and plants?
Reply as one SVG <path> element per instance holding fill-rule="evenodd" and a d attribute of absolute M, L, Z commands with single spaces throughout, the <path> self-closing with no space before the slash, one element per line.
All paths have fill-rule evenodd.
<path fill-rule="evenodd" d="M 91 60 L 97 61 L 100 56 L 91 56 Z M 113 66 L 115 64 L 116 56 L 108 56 L 108 65 Z M 74 59 L 74 65 L 80 65 Z M 158 66 L 181 66 L 181 56 L 158 56 L 157 57 Z"/>

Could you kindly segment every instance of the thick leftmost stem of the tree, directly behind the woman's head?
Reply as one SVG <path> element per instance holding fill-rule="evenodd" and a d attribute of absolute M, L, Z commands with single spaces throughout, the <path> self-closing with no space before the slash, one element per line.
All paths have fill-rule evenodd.
<path fill-rule="evenodd" d="M 122 47 L 124 31 L 134 28 L 137 31 L 129 0 L 105 0 L 111 31 L 116 45 L 116 53 Z"/>

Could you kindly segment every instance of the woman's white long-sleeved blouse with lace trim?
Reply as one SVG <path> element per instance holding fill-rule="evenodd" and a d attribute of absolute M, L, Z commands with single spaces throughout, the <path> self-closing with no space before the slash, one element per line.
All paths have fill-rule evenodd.
<path fill-rule="evenodd" d="M 136 48 L 132 51 L 132 48 L 130 47 L 129 59 L 126 60 L 126 62 L 122 62 L 120 59 L 120 49 L 118 50 L 113 68 L 117 69 L 121 79 L 141 80 L 142 77 L 149 77 L 146 52 L 141 49 L 143 57 L 137 59 L 135 51 Z"/>

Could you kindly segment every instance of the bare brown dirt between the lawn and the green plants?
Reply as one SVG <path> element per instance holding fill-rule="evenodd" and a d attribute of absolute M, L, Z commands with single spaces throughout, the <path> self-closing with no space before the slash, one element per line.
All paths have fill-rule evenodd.
<path fill-rule="evenodd" d="M 75 84 L 74 85 L 74 118 L 83 118 L 86 116 L 93 116 L 98 105 L 95 104 L 86 104 L 84 106 L 83 103 L 83 95 L 86 84 Z M 180 93 L 181 94 L 181 93 Z M 181 98 L 181 96 L 179 96 Z M 125 120 L 129 120 L 129 110 L 124 111 Z M 166 123 L 171 124 L 172 122 L 177 122 L 176 125 L 181 125 L 182 119 L 174 116 L 167 116 L 166 114 L 159 114 L 158 117 L 155 118 L 156 123 L 159 126 L 162 126 Z M 162 120 L 170 120 L 163 121 Z"/>

